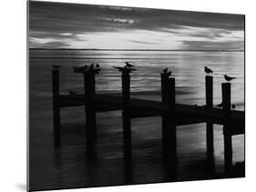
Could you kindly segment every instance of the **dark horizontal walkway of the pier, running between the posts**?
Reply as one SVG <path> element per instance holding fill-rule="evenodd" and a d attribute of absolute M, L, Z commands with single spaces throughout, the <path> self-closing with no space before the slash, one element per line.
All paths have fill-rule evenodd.
<path fill-rule="evenodd" d="M 113 95 L 93 96 L 97 112 L 121 110 L 122 97 Z M 59 96 L 60 106 L 84 106 L 84 95 L 61 95 Z M 167 110 L 167 103 L 146 99 L 130 98 L 131 117 L 163 116 Z M 213 124 L 223 125 L 224 114 L 220 108 L 208 109 L 206 106 L 191 106 L 176 104 L 177 125 L 188 125 L 211 121 Z M 234 129 L 232 134 L 244 133 L 244 112 L 230 110 L 230 126 Z M 183 122 L 183 123 L 182 123 Z M 239 127 L 240 126 L 240 127 Z"/>

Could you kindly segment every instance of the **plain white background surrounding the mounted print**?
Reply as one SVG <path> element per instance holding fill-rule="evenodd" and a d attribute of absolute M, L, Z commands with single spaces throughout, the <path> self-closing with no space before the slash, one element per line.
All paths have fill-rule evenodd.
<path fill-rule="evenodd" d="M 52 0 L 54 1 L 54 0 Z M 209 11 L 246 15 L 246 178 L 193 181 L 169 184 L 152 184 L 127 187 L 97 187 L 70 189 L 63 191 L 119 191 L 130 190 L 175 190 L 208 191 L 255 190 L 255 108 L 254 76 L 256 11 L 253 1 L 234 0 L 59 0 L 61 2 L 124 5 L 148 8 L 166 8 L 189 11 Z M 56 2 L 59 2 L 56 1 Z M 25 191 L 26 186 L 26 0 L 6 0 L 1 2 L 1 126 L 0 126 L 0 190 Z"/>

